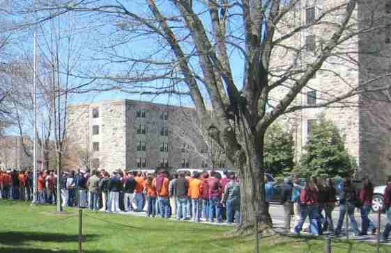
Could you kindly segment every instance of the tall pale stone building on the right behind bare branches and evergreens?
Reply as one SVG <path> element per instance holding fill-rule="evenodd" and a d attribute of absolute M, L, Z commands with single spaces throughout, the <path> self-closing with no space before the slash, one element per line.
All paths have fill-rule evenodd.
<path fill-rule="evenodd" d="M 302 0 L 282 22 L 279 35 L 292 28 L 310 25 L 328 10 L 346 0 Z M 388 92 L 362 92 L 335 104 L 321 107 L 338 95 L 365 87 L 375 90 L 390 84 L 391 3 L 385 0 L 358 1 L 353 12 L 352 31 L 365 31 L 339 45 L 333 55 L 316 72 L 292 106 L 309 106 L 302 111 L 286 115 L 296 142 L 296 160 L 304 150 L 311 126 L 319 115 L 336 124 L 345 137 L 348 152 L 358 163 L 358 176 L 367 174 L 376 183 L 383 183 L 391 174 L 391 103 Z M 346 6 L 344 7 L 346 8 Z M 341 22 L 344 8 L 325 20 Z M 374 23 L 371 23 L 374 22 Z M 325 22 L 324 22 L 325 23 Z M 302 29 L 286 41 L 285 46 L 273 51 L 276 72 L 292 66 L 292 70 L 305 70 L 319 56 L 319 49 L 330 40 L 336 27 L 329 24 Z M 346 35 L 346 34 L 345 34 Z M 278 35 L 277 35 L 278 37 Z M 351 53 L 349 53 L 351 52 Z M 276 97 L 285 93 L 289 85 L 274 92 Z"/>

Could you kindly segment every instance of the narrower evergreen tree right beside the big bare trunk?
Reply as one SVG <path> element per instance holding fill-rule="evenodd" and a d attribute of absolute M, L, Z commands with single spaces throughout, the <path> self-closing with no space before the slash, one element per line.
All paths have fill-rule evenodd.
<path fill-rule="evenodd" d="M 280 124 L 271 125 L 266 131 L 264 163 L 268 173 L 275 177 L 289 174 L 294 167 L 293 136 Z"/>

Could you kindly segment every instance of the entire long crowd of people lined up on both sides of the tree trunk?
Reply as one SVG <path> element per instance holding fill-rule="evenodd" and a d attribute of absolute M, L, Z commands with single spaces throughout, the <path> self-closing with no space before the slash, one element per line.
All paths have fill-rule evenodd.
<path fill-rule="evenodd" d="M 56 174 L 54 171 L 38 173 L 38 203 L 56 204 Z M 268 181 L 265 177 L 265 181 Z M 368 177 L 362 179 L 363 187 L 356 189 L 351 179 L 344 179 L 339 190 L 332 179 L 312 177 L 304 185 L 298 177 L 287 177 L 280 187 L 279 201 L 284 209 L 284 229 L 300 234 L 308 218 L 309 233 L 324 232 L 339 235 L 345 215 L 355 236 L 376 233 L 376 226 L 369 219 L 374 185 Z M 91 211 L 141 212 L 148 217 L 176 218 L 200 222 L 240 222 L 240 185 L 234 172 L 141 172 L 114 170 L 72 170 L 61 177 L 63 206 L 78 206 Z M 266 202 L 273 199 L 274 183 L 265 184 Z M 332 221 L 332 211 L 339 196 L 337 226 Z M 27 171 L 0 170 L 0 198 L 33 199 L 33 173 Z M 388 223 L 383 231 L 387 239 L 391 232 L 391 177 L 384 193 L 383 211 Z M 360 210 L 361 231 L 355 220 L 355 209 Z M 291 219 L 293 216 L 293 219 Z"/>

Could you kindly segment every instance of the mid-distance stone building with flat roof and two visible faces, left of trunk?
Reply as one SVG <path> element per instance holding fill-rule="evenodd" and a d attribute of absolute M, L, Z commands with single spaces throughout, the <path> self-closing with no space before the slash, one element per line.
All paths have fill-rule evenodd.
<path fill-rule="evenodd" d="M 91 156 L 84 157 L 91 168 L 208 168 L 196 118 L 193 108 L 128 99 L 72 104 L 67 149 L 71 156 Z M 88 166 L 72 160 L 79 160 L 73 166 Z"/>

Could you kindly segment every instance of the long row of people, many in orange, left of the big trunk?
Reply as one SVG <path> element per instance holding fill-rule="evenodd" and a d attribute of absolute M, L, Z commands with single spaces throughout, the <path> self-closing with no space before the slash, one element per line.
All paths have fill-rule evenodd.
<path fill-rule="evenodd" d="M 55 204 L 56 174 L 38 173 L 37 201 Z M 0 171 L 0 197 L 31 200 L 31 171 Z M 240 222 L 240 187 L 234 172 L 141 172 L 72 170 L 61 176 L 62 206 L 92 211 L 141 212 L 148 217 L 209 222 Z"/>

